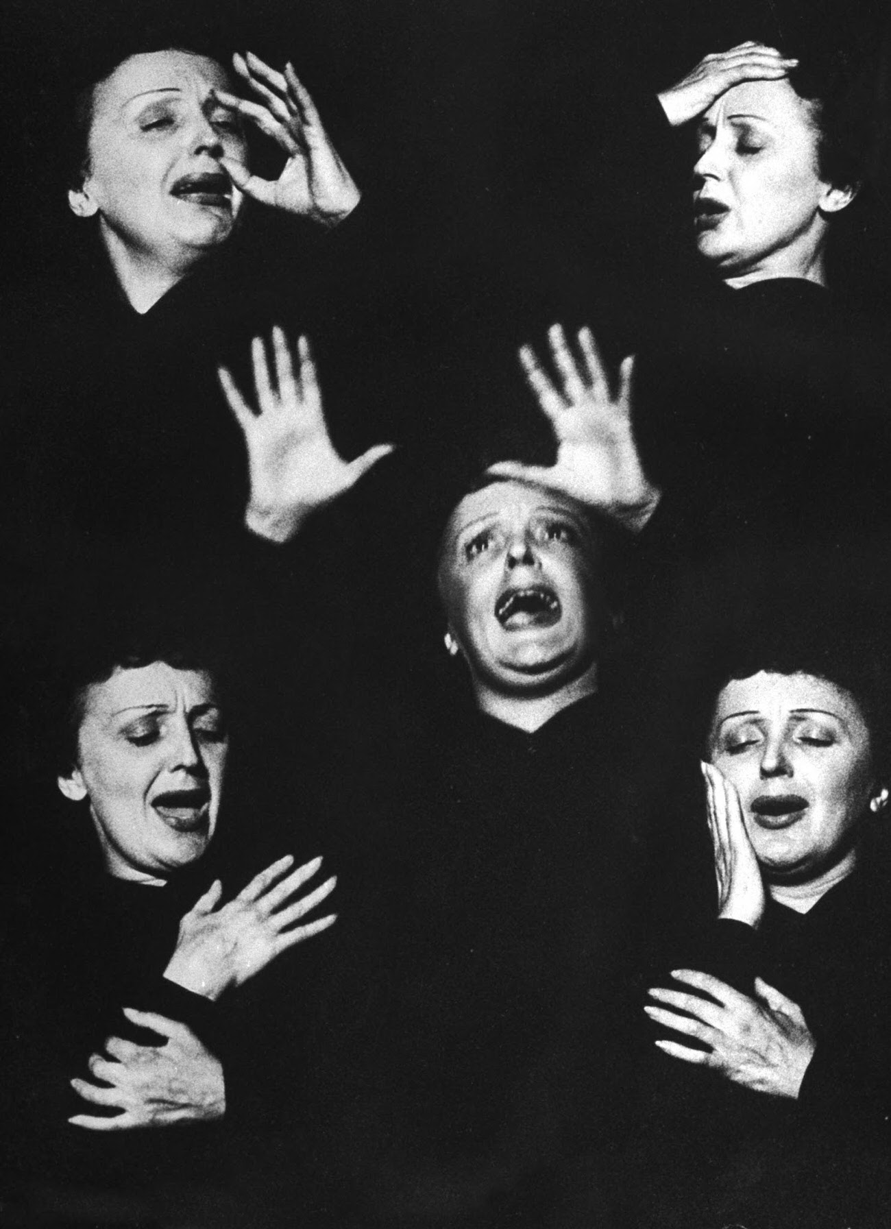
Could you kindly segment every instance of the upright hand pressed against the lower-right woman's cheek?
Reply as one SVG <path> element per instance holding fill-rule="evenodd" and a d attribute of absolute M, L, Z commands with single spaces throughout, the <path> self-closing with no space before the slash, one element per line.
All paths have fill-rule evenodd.
<path fill-rule="evenodd" d="M 713 764 L 701 767 L 718 881 L 718 916 L 757 928 L 764 916 L 764 881 L 746 832 L 740 795 Z"/>

